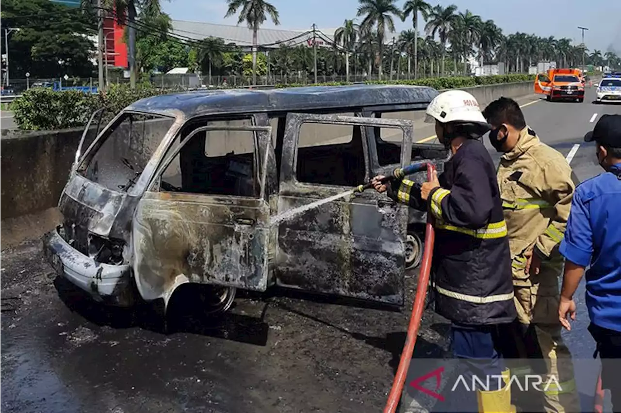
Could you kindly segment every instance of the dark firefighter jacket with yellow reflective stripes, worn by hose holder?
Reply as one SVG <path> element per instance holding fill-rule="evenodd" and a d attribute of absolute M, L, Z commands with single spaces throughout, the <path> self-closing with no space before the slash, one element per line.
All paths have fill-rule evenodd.
<path fill-rule="evenodd" d="M 438 176 L 427 202 L 412 180 L 389 196 L 435 218 L 433 275 L 436 311 L 454 322 L 498 324 L 515 319 L 507 226 L 496 171 L 487 149 L 465 141 Z"/>

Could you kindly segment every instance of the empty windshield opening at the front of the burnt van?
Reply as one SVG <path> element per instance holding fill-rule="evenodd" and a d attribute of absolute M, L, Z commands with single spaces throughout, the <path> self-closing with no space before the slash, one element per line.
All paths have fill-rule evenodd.
<path fill-rule="evenodd" d="M 174 123 L 171 117 L 125 113 L 102 135 L 78 173 L 107 189 L 126 192 Z"/>

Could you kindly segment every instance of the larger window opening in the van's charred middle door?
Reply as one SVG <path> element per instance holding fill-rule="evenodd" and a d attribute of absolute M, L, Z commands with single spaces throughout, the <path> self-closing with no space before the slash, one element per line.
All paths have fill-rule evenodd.
<path fill-rule="evenodd" d="M 346 187 L 364 182 L 366 162 L 360 126 L 304 122 L 298 142 L 298 182 Z"/>

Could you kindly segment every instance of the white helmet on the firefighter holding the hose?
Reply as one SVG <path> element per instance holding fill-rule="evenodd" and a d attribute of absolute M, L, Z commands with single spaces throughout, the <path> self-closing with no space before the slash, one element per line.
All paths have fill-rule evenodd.
<path fill-rule="evenodd" d="M 459 90 L 442 92 L 433 98 L 427 106 L 425 122 L 435 123 L 436 120 L 440 123 L 478 123 L 489 128 L 474 96 Z"/>

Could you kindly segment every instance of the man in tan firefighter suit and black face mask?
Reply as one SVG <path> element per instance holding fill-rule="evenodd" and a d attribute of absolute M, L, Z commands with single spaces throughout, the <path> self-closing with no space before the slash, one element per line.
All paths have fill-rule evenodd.
<path fill-rule="evenodd" d="M 557 311 L 563 271 L 558 247 L 575 189 L 571 168 L 527 126 L 515 100 L 501 97 L 483 115 L 492 125 L 489 141 L 502 153 L 497 179 L 517 309 L 514 351 L 505 355 L 516 359 L 509 362 L 515 376 L 543 375 L 543 383 L 550 384 L 542 386 L 543 394 L 519 399 L 537 411 L 579 412 L 571 353 L 561 338 Z"/>

